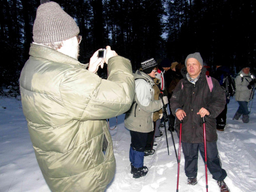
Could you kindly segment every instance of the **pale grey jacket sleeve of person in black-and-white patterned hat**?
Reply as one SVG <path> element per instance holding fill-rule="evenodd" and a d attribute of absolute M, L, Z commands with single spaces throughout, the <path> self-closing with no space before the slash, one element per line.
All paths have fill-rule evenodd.
<path fill-rule="evenodd" d="M 162 102 L 160 100 L 154 100 L 152 98 L 150 85 L 143 79 L 136 80 L 136 100 L 139 108 L 147 113 L 153 113 L 162 108 Z"/>

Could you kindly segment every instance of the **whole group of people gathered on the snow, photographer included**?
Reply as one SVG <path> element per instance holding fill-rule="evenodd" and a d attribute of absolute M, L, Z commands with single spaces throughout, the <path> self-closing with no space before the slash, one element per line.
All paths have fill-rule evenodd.
<path fill-rule="evenodd" d="M 52 191 L 104 191 L 115 174 L 111 135 L 105 120 L 125 113 L 130 130 L 133 178 L 147 174 L 144 157 L 154 155 L 154 139 L 161 137 L 161 121 L 180 135 L 187 184 L 197 183 L 198 152 L 205 153 L 203 120 L 206 119 L 207 166 L 222 192 L 229 191 L 217 149 L 217 130 L 224 131 L 230 93 L 223 86 L 225 66 L 210 74 L 199 52 L 185 60 L 168 58 L 141 62 L 135 73 L 129 59 L 106 46 L 104 58 L 96 51 L 86 65 L 78 61 L 79 28 L 55 2 L 41 1 L 33 25 L 30 58 L 20 74 L 23 112 L 37 162 Z M 96 72 L 108 65 L 108 79 Z M 212 76 L 212 77 L 211 77 Z M 237 75 L 236 101 L 249 122 L 248 102 L 255 78 L 245 66 Z M 164 106 L 170 114 L 165 114 Z M 164 123 L 165 124 L 165 123 Z M 105 146 L 104 153 L 102 152 Z"/>

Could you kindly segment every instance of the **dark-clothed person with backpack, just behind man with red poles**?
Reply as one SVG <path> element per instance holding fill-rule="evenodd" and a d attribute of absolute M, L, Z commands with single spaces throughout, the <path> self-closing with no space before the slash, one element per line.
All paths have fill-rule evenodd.
<path fill-rule="evenodd" d="M 224 131 L 227 119 L 227 104 L 230 101 L 230 97 L 236 93 L 236 84 L 232 74 L 227 66 L 216 66 L 216 72 L 212 74 L 212 77 L 216 78 L 220 86 L 225 90 L 226 104 L 224 110 L 216 117 L 216 124 L 218 131 Z"/>

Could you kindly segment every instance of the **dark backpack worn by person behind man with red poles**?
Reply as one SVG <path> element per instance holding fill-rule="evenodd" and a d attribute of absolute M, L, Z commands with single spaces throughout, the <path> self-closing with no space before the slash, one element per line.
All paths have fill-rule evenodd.
<path fill-rule="evenodd" d="M 236 83 L 232 75 L 226 73 L 221 75 L 220 86 L 224 88 L 226 97 L 233 97 L 236 93 Z"/>

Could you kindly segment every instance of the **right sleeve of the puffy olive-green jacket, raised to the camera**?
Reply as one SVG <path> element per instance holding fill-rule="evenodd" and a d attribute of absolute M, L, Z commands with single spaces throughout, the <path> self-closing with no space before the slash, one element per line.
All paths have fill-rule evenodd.
<path fill-rule="evenodd" d="M 130 109 L 135 94 L 130 60 L 115 56 L 108 67 L 107 80 L 86 69 L 71 70 L 63 77 L 60 93 L 73 119 L 107 119 Z"/>

